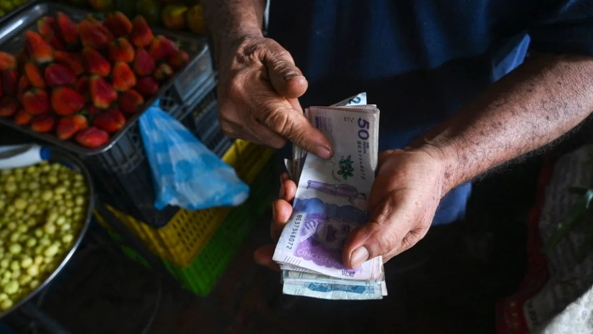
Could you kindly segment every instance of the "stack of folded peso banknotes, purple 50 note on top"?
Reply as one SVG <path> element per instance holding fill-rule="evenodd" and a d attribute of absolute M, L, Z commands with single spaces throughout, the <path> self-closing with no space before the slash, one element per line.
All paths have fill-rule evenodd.
<path fill-rule="evenodd" d="M 295 147 L 289 172 L 297 183 L 293 212 L 273 256 L 283 293 L 332 300 L 387 295 L 381 256 L 350 269 L 343 247 L 350 231 L 368 222 L 377 169 L 379 109 L 359 94 L 339 105 L 311 107 L 305 116 L 330 140 L 327 161 Z"/>

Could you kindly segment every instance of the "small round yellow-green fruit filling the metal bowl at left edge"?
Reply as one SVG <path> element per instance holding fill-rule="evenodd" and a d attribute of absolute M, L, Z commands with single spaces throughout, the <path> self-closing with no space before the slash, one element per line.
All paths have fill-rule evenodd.
<path fill-rule="evenodd" d="M 88 211 L 82 174 L 42 162 L 0 171 L 0 310 L 43 283 L 72 249 Z"/>

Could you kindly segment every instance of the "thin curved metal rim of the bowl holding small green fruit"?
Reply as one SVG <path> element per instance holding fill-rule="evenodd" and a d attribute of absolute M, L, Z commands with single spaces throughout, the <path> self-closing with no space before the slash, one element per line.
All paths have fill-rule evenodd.
<path fill-rule="evenodd" d="M 49 160 L 50 163 L 63 164 L 64 166 L 71 168 L 72 170 L 78 171 L 79 173 L 81 173 L 84 176 L 84 179 L 86 181 L 87 188 L 88 188 L 88 208 L 87 208 L 87 215 L 85 218 L 85 222 L 80 230 L 80 233 L 78 234 L 78 237 L 76 238 L 76 242 L 74 243 L 74 246 L 72 246 L 72 249 L 70 249 L 69 252 L 66 254 L 66 256 L 62 259 L 62 262 L 60 262 L 60 264 L 58 265 L 58 268 L 56 268 L 56 270 L 53 271 L 51 275 L 47 276 L 47 278 L 41 284 L 39 284 L 39 287 L 37 287 L 37 288 L 35 288 L 35 290 L 31 291 L 31 293 L 28 294 L 27 297 L 21 299 L 20 301 L 18 301 L 18 303 L 15 303 L 7 311 L 0 313 L 0 319 L 7 316 L 9 313 L 16 310 L 17 308 L 23 306 L 23 304 L 27 303 L 27 301 L 31 300 L 31 298 L 33 298 L 35 295 L 39 294 L 40 291 L 42 291 L 44 288 L 46 288 L 47 285 L 50 284 L 52 279 L 54 279 L 54 278 L 56 278 L 56 276 L 58 276 L 60 271 L 62 271 L 62 269 L 66 266 L 66 263 L 68 263 L 68 260 L 70 260 L 72 255 L 74 255 L 74 252 L 76 252 L 76 249 L 78 249 L 78 246 L 80 246 L 82 238 L 84 238 L 85 234 L 87 233 L 88 227 L 91 222 L 91 217 L 93 215 L 94 194 L 95 194 L 94 188 L 93 188 L 93 179 L 91 179 L 91 174 L 88 173 L 87 168 L 84 167 L 84 164 L 82 164 L 82 161 L 78 160 L 78 158 L 76 158 L 73 155 L 68 154 L 65 151 L 62 151 L 58 148 L 52 147 L 51 149 L 52 149 L 52 157 Z"/>

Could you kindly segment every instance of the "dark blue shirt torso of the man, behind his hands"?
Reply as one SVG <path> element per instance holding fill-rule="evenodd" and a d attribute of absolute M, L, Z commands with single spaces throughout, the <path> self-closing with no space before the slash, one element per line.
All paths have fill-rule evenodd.
<path fill-rule="evenodd" d="M 302 106 L 365 91 L 380 150 L 401 148 L 524 61 L 593 55 L 593 0 L 272 0 L 269 37 L 309 82 Z M 463 218 L 469 184 L 435 224 Z"/>

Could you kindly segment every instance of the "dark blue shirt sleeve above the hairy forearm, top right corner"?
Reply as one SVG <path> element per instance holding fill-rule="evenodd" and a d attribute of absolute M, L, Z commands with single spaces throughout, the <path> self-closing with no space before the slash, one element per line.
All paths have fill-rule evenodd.
<path fill-rule="evenodd" d="M 528 29 L 531 49 L 593 56 L 593 0 L 540 1 Z"/>

